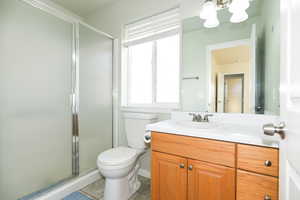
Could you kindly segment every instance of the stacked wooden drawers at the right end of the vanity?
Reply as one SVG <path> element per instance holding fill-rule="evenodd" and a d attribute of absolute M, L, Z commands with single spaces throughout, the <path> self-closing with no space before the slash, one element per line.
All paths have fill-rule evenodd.
<path fill-rule="evenodd" d="M 237 144 L 237 200 L 278 200 L 279 151 Z"/>

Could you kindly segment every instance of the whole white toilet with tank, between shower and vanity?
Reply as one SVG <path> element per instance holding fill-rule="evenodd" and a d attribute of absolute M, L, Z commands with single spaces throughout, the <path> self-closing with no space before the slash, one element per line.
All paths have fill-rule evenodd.
<path fill-rule="evenodd" d="M 139 159 L 146 151 L 145 126 L 156 119 L 152 114 L 124 114 L 129 147 L 109 149 L 97 159 L 98 169 L 105 177 L 104 200 L 128 200 L 139 189 Z"/>

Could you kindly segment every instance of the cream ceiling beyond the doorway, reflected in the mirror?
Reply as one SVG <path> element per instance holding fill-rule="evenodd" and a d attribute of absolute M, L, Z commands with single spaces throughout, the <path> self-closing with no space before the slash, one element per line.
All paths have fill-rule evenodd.
<path fill-rule="evenodd" d="M 226 65 L 237 62 L 249 62 L 250 47 L 242 45 L 226 49 L 214 50 L 213 57 L 215 59 L 216 64 L 218 65 Z"/>

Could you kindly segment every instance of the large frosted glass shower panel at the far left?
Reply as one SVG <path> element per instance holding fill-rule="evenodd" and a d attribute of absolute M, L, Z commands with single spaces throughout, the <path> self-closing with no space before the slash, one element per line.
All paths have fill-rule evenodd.
<path fill-rule="evenodd" d="M 0 1 L 0 199 L 72 176 L 72 24 Z"/>

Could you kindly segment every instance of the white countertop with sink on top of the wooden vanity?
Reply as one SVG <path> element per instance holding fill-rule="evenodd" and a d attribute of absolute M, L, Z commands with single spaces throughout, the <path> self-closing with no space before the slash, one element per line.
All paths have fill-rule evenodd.
<path fill-rule="evenodd" d="M 218 122 L 215 128 L 199 129 L 182 125 L 182 121 L 166 120 L 146 126 L 147 131 L 176 134 L 183 136 L 215 139 L 226 142 L 251 144 L 264 147 L 279 148 L 279 137 L 270 137 L 263 134 L 261 127 L 247 123 Z M 197 122 L 204 123 L 204 122 Z"/>

